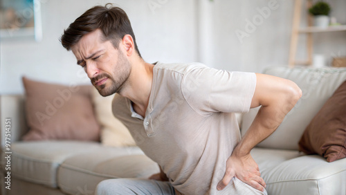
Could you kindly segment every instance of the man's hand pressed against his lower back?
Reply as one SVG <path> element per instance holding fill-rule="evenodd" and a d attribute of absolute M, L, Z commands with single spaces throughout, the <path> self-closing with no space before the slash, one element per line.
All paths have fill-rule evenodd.
<path fill-rule="evenodd" d="M 219 181 L 217 189 L 224 189 L 233 177 L 239 178 L 239 180 L 242 180 L 244 183 L 251 185 L 261 192 L 263 192 L 264 187 L 266 187 L 266 183 L 264 183 L 263 178 L 261 178 L 260 169 L 258 169 L 257 163 L 250 154 L 246 156 L 237 156 L 233 153 L 230 158 L 228 158 L 226 162 L 226 173 L 224 178 Z"/>

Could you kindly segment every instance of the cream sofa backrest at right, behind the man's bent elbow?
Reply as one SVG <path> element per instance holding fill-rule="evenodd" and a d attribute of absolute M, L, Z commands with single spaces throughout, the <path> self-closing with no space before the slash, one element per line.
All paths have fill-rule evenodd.
<path fill-rule="evenodd" d="M 264 74 L 292 80 L 302 89 L 302 97 L 286 115 L 280 127 L 257 147 L 298 150 L 298 142 L 309 122 L 338 86 L 346 80 L 346 68 L 274 66 L 266 68 Z M 242 136 L 253 122 L 258 109 L 260 108 L 251 109 L 243 115 Z"/>

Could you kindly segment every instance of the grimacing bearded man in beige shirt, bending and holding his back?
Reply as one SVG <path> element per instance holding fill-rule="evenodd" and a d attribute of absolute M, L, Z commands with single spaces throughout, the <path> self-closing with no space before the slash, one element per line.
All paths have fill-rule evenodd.
<path fill-rule="evenodd" d="M 84 12 L 61 41 L 101 95 L 118 93 L 114 115 L 161 167 L 152 180 L 104 180 L 98 194 L 266 194 L 250 151 L 299 100 L 296 84 L 199 63 L 149 64 L 126 13 L 109 5 Z M 234 113 L 257 106 L 241 139 Z"/>

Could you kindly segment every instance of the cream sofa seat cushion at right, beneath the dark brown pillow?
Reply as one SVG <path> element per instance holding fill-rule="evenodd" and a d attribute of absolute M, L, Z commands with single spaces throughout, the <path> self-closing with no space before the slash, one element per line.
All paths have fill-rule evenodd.
<path fill-rule="evenodd" d="M 268 194 L 345 194 L 346 158 L 327 163 L 317 155 L 298 151 L 254 148 Z"/>

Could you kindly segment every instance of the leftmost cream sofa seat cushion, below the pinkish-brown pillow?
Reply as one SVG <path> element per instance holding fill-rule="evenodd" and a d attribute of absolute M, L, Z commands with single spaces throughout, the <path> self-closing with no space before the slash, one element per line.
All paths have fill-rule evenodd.
<path fill-rule="evenodd" d="M 97 151 L 100 144 L 78 141 L 15 142 L 11 148 L 12 176 L 57 187 L 57 167 L 70 156 Z"/>

